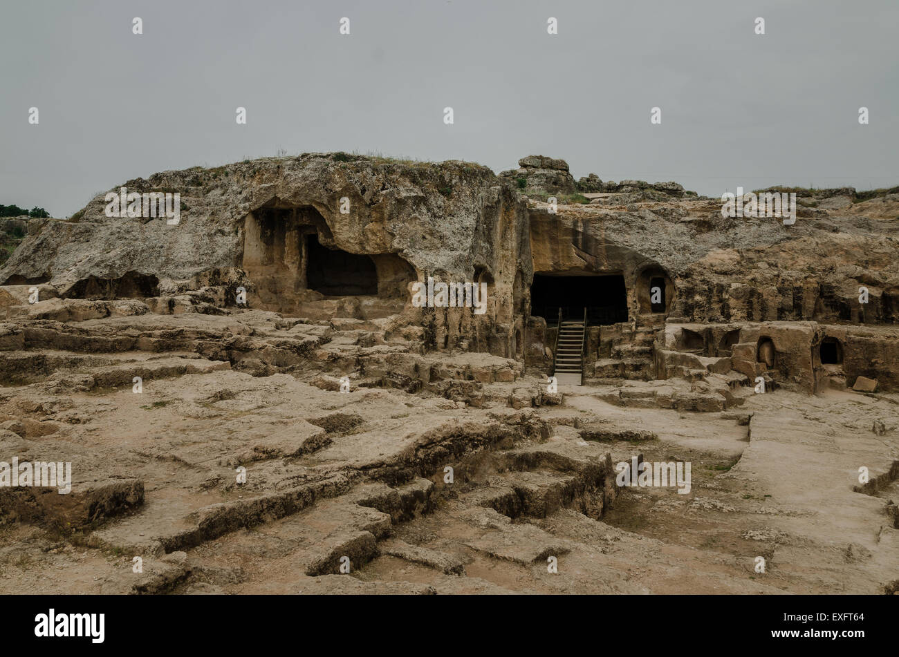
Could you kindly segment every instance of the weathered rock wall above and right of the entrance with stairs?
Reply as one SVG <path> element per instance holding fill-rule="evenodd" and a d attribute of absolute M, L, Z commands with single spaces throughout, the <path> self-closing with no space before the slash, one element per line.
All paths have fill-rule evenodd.
<path fill-rule="evenodd" d="M 560 206 L 555 215 L 532 202 L 534 271 L 619 271 L 632 317 L 646 305 L 637 277 L 658 271 L 671 277 L 668 315 L 679 321 L 896 323 L 899 244 L 889 223 L 859 215 L 867 205 L 800 207 L 784 225 L 723 218 L 709 199 Z"/>

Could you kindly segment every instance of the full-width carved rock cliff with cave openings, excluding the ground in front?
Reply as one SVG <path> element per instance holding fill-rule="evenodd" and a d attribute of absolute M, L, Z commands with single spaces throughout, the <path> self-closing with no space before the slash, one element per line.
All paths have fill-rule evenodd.
<path fill-rule="evenodd" d="M 797 222 L 785 225 L 724 217 L 719 200 L 673 182 L 575 183 L 564 160 L 543 155 L 519 165 L 496 176 L 467 162 L 307 153 L 129 180 L 111 192 L 179 193 L 180 222 L 108 216 L 104 194 L 74 221 L 32 219 L 0 267 L 0 311 L 389 320 L 385 336 L 423 351 L 489 352 L 549 371 L 564 307 L 588 316 L 583 371 L 600 378 L 693 376 L 683 357 L 668 362 L 668 326 L 683 327 L 673 351 L 735 350 L 745 377 L 806 391 L 859 376 L 899 385 L 896 190 L 800 190 Z M 565 205 L 578 189 L 592 203 Z M 414 304 L 415 284 L 429 281 L 485 285 L 483 312 L 439 291 L 425 303 L 438 307 Z M 125 299 L 145 310 L 68 301 Z"/>

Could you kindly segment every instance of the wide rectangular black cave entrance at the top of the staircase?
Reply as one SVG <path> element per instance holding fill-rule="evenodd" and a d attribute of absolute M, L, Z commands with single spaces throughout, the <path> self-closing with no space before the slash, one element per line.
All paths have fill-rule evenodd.
<path fill-rule="evenodd" d="M 563 320 L 598 324 L 628 321 L 628 291 L 624 276 L 547 276 L 535 274 L 530 286 L 531 315 L 556 325 L 559 309 Z"/>

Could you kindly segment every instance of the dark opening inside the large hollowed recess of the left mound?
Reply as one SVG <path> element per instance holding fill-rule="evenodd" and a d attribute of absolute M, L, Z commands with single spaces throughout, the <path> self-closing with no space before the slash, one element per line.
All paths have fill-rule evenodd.
<path fill-rule="evenodd" d="M 307 235 L 307 286 L 325 296 L 378 294 L 378 270 L 369 256 L 328 249 Z"/>

